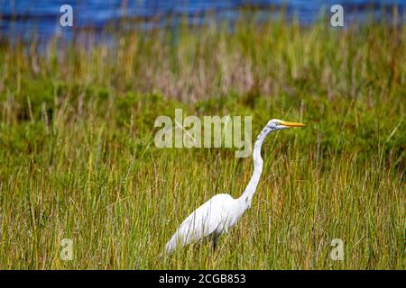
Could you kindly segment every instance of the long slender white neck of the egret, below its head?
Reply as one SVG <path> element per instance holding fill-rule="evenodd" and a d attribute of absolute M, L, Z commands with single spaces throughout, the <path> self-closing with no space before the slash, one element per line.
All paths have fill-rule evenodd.
<path fill-rule="evenodd" d="M 256 191 L 256 187 L 258 186 L 259 179 L 261 174 L 263 173 L 263 158 L 261 157 L 261 148 L 263 146 L 263 140 L 266 138 L 270 131 L 264 128 L 261 133 L 258 135 L 258 138 L 254 144 L 253 150 L 253 158 L 254 158 L 254 173 L 251 176 L 250 182 L 247 184 L 245 188 L 245 192 L 241 195 L 238 199 L 240 202 L 243 203 L 245 209 L 251 206 L 251 202 L 253 201 L 253 196 Z"/>

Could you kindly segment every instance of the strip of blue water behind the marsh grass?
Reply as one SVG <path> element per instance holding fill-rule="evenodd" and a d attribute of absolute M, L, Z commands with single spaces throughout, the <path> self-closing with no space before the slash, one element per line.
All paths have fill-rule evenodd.
<path fill-rule="evenodd" d="M 60 27 L 62 4 L 73 7 L 73 28 Z M 247 5 L 259 10 L 260 20 L 276 19 L 284 9 L 288 17 L 308 25 L 318 20 L 323 11 L 330 14 L 329 7 L 333 4 L 343 5 L 346 26 L 363 23 L 371 15 L 378 21 L 383 14 L 392 13 L 393 5 L 397 6 L 399 22 L 406 20 L 406 0 L 0 0 L 0 35 L 24 39 L 35 34 L 40 39 L 47 39 L 59 33 L 69 38 L 74 30 L 102 31 L 106 25 L 118 23 L 123 16 L 133 20 L 131 29 L 176 26 L 185 16 L 190 23 L 203 25 L 203 15 L 208 12 L 215 13 L 220 22 L 233 23 L 241 17 L 240 8 Z"/>

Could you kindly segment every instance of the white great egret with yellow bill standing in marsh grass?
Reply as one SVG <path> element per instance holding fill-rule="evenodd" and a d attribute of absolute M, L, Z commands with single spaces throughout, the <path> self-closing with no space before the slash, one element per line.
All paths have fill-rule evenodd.
<path fill-rule="evenodd" d="M 290 127 L 302 127 L 305 124 L 272 119 L 258 135 L 253 151 L 254 173 L 244 193 L 237 199 L 226 193 L 213 196 L 208 202 L 193 211 L 172 235 L 165 246 L 165 253 L 171 254 L 177 247 L 184 247 L 192 242 L 212 239 L 214 247 L 222 233 L 235 226 L 245 210 L 251 207 L 251 202 L 263 172 L 263 158 L 261 147 L 263 140 L 274 130 L 283 130 Z"/>

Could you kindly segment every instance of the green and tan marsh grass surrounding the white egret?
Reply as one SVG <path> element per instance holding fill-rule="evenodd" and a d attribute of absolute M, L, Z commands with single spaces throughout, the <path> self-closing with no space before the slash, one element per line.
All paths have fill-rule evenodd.
<path fill-rule="evenodd" d="M 403 269 L 406 27 L 239 23 L 0 45 L 0 268 Z M 156 148 L 154 120 L 303 121 L 263 145 L 252 208 L 213 252 L 164 244 L 252 158 Z M 71 238 L 73 260 L 60 259 Z M 344 241 L 333 261 L 331 240 Z"/>

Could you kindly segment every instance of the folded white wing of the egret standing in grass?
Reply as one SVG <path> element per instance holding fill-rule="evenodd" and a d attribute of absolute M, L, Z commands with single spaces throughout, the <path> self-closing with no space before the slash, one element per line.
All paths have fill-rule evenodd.
<path fill-rule="evenodd" d="M 180 244 L 188 245 L 222 229 L 225 222 L 225 202 L 231 198 L 227 194 L 217 194 L 193 211 L 181 224 L 167 243 L 167 250 Z"/>

